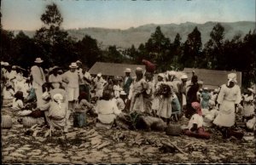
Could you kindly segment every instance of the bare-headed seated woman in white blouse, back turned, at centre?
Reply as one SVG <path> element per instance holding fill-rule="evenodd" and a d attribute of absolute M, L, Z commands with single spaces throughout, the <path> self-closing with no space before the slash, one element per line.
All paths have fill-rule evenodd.
<path fill-rule="evenodd" d="M 103 124 L 107 124 L 112 126 L 115 118 L 121 113 L 119 108 L 111 99 L 111 91 L 104 90 L 102 94 L 102 98 L 96 103 L 96 113 L 98 114 L 98 121 Z"/>

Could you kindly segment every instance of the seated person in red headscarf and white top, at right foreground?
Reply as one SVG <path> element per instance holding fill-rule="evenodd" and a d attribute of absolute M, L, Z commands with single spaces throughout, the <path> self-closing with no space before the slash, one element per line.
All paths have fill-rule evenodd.
<path fill-rule="evenodd" d="M 190 118 L 188 128 L 183 130 L 184 134 L 200 139 L 210 139 L 210 134 L 203 128 L 203 117 L 201 105 L 198 102 L 193 102 L 192 107 L 196 113 Z"/>

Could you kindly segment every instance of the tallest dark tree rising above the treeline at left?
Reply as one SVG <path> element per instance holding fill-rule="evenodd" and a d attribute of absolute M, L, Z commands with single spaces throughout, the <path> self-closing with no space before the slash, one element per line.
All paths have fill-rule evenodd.
<path fill-rule="evenodd" d="M 44 14 L 41 15 L 44 26 L 41 27 L 34 36 L 38 55 L 42 56 L 49 64 L 53 65 L 64 57 L 63 48 L 70 44 L 67 31 L 61 30 L 63 18 L 55 3 L 46 6 Z M 71 42 L 72 43 L 72 42 Z M 61 49 L 60 49 L 61 48 Z M 74 54 L 68 54 L 74 55 Z"/>

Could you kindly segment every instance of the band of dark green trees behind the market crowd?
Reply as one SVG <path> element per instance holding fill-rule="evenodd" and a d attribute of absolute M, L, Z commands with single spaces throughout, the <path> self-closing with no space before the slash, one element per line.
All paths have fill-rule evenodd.
<path fill-rule="evenodd" d="M 201 31 L 197 27 L 184 43 L 178 33 L 171 43 L 157 26 L 146 43 L 120 51 L 115 45 L 102 50 L 100 43 L 88 35 L 79 41 L 68 36 L 67 31 L 61 30 L 63 18 L 55 3 L 46 6 L 41 20 L 44 26 L 33 38 L 27 37 L 23 31 L 15 36 L 12 31 L 3 30 L 1 25 L 0 59 L 25 68 L 30 67 L 37 57 L 44 59 L 44 67 L 67 67 L 76 60 L 88 67 L 96 61 L 142 64 L 144 59 L 153 62 L 157 72 L 182 71 L 184 67 L 236 70 L 242 71 L 245 88 L 256 83 L 256 30 L 249 31 L 243 38 L 238 33 L 232 39 L 224 40 L 224 26 L 218 23 L 213 26 L 211 38 L 202 48 Z"/>

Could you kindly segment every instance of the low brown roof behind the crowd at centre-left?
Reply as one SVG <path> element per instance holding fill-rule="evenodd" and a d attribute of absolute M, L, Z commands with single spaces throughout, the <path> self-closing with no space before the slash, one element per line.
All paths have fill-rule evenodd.
<path fill-rule="evenodd" d="M 90 74 L 96 75 L 97 73 L 101 72 L 102 75 L 105 76 L 125 76 L 125 68 L 131 69 L 131 76 L 135 76 L 135 70 L 137 67 L 143 68 L 145 71 L 144 65 L 131 65 L 131 64 L 117 64 L 117 63 L 107 63 L 107 62 L 96 62 L 90 68 Z"/>

